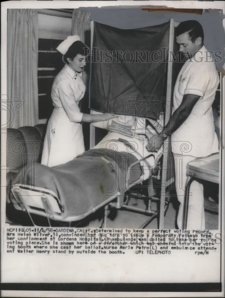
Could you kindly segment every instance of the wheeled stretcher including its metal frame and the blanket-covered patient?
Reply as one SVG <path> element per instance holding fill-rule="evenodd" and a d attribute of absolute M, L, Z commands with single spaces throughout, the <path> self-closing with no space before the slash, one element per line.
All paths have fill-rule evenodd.
<path fill-rule="evenodd" d="M 145 136 L 129 138 L 110 132 L 94 148 L 66 164 L 52 168 L 36 163 L 33 167 L 26 166 L 13 181 L 15 184 L 11 189 L 10 200 L 15 209 L 29 215 L 34 226 L 33 215 L 46 217 L 49 226 L 52 221 L 68 222 L 71 225 L 102 207 L 104 227 L 107 225 L 109 208 L 112 207 L 148 214 L 149 223 L 159 213 L 159 210 L 152 211 L 150 205 L 151 200 L 157 198 L 148 197 L 146 209 L 128 204 L 129 196 L 135 195 L 129 193 L 134 185 L 140 185 L 146 179 L 151 181 L 156 171 L 158 175 L 162 152 L 156 156 L 155 153 L 149 153 L 145 148 L 146 142 Z M 32 179 L 32 175 L 35 175 L 35 179 Z M 86 184 L 82 184 L 82 177 L 85 176 Z M 31 185 L 29 181 L 35 182 Z M 138 195 L 139 198 L 146 198 L 145 195 Z M 166 200 L 165 211 L 167 208 Z"/>

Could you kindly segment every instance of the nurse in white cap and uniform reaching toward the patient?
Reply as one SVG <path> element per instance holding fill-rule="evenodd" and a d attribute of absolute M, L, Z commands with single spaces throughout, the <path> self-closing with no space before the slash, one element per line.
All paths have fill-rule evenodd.
<path fill-rule="evenodd" d="M 41 163 L 53 167 L 68 162 L 85 151 L 81 122 L 97 122 L 117 117 L 114 114 L 83 114 L 79 101 L 85 94 L 82 71 L 85 48 L 78 35 L 68 36 L 58 47 L 65 66 L 55 77 L 51 98 L 54 110 L 48 122 Z"/>

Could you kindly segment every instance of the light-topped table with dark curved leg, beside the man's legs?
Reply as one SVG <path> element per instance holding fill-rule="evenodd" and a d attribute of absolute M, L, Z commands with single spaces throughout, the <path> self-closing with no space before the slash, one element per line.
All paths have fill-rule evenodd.
<path fill-rule="evenodd" d="M 185 187 L 182 229 L 187 228 L 187 212 L 191 182 L 195 179 L 219 183 L 219 153 L 199 157 L 187 164 L 187 181 Z"/>

